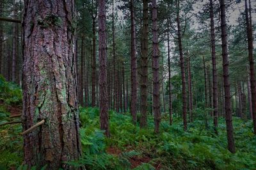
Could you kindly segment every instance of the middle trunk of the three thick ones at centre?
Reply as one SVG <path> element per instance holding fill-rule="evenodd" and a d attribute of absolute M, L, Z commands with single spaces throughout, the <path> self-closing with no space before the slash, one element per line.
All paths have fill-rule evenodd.
<path fill-rule="evenodd" d="M 141 35 L 141 101 L 140 127 L 147 126 L 147 96 L 148 96 L 148 0 L 143 0 L 143 27 Z"/>

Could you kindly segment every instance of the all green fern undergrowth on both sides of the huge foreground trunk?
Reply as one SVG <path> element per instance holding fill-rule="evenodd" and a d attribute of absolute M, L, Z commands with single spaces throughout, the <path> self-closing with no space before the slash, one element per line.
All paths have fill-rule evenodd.
<path fill-rule="evenodd" d="M 21 94 L 17 85 L 0 78 L 0 169 L 26 169 L 22 165 L 21 124 L 3 125 L 20 121 L 10 115 L 16 114 L 12 108 L 20 108 Z M 234 117 L 237 152 L 232 154 L 227 150 L 225 119 L 219 118 L 216 136 L 212 118 L 205 125 L 204 109 L 196 111 L 196 120 L 187 132 L 181 118 L 174 115 L 173 125 L 169 125 L 168 115 L 162 113 L 159 134 L 154 134 L 152 115 L 147 128 L 140 129 L 140 114 L 138 124 L 133 125 L 130 113 L 109 111 L 111 137 L 106 138 L 99 129 L 99 109 L 80 108 L 83 157 L 67 164 L 86 169 L 256 169 L 251 120 Z"/>

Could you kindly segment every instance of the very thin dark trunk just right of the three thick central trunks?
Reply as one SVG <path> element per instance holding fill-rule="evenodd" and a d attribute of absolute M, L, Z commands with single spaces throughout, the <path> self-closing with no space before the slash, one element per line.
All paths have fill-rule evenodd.
<path fill-rule="evenodd" d="M 169 7 L 169 4 L 168 4 Z M 171 56 L 170 56 L 170 23 L 169 18 L 167 17 L 168 31 L 167 31 L 167 43 L 168 43 L 168 81 L 169 81 L 169 122 L 172 125 L 172 83 L 171 83 Z"/>

